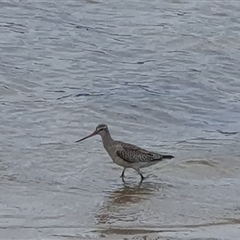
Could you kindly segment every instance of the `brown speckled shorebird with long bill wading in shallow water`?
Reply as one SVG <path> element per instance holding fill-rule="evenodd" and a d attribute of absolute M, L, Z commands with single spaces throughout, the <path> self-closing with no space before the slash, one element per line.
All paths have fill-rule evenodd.
<path fill-rule="evenodd" d="M 108 152 L 109 156 L 112 158 L 113 162 L 123 167 L 123 171 L 120 176 L 122 180 L 124 180 L 124 172 L 126 168 L 133 168 L 141 176 L 142 182 L 144 176 L 140 172 L 141 168 L 149 167 L 158 162 L 162 162 L 165 159 L 174 158 L 172 155 L 162 155 L 145 150 L 130 143 L 115 141 L 112 139 L 106 124 L 99 124 L 93 133 L 77 140 L 76 142 L 81 142 L 97 134 L 102 137 L 103 146 Z"/>

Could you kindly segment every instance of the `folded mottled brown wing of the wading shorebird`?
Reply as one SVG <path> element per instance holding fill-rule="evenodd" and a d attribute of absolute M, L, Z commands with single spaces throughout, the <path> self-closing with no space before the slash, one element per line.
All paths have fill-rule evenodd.
<path fill-rule="evenodd" d="M 163 156 L 158 153 L 149 152 L 131 144 L 121 144 L 121 149 L 116 154 L 129 163 L 160 161 Z"/>

